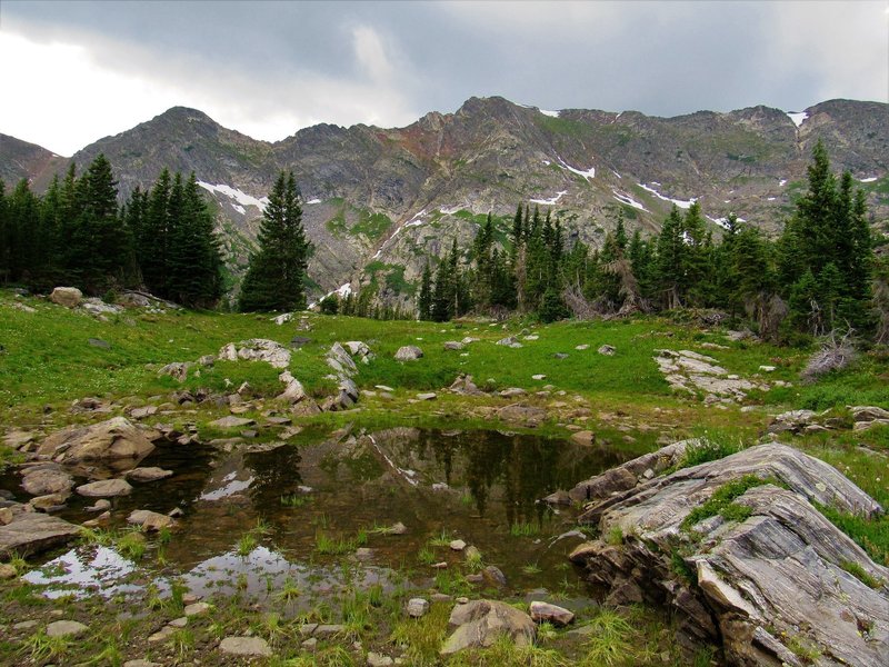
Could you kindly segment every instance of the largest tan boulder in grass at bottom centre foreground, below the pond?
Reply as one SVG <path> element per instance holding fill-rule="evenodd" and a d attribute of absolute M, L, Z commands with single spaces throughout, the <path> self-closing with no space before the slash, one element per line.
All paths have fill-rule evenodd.
<path fill-rule="evenodd" d="M 506 635 L 517 646 L 529 646 L 537 636 L 531 617 L 506 603 L 473 600 L 457 605 L 448 619 L 453 629 L 441 647 L 441 656 L 451 656 L 467 648 L 487 648 Z"/>

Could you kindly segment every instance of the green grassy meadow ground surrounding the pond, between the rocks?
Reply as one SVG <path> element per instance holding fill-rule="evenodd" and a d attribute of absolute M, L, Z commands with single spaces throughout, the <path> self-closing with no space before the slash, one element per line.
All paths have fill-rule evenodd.
<path fill-rule="evenodd" d="M 36 312 L 12 307 L 19 302 Z M 157 369 L 170 361 L 194 361 L 202 355 L 216 355 L 220 347 L 248 338 L 270 338 L 288 345 L 294 335 L 310 342 L 293 351 L 291 372 L 310 394 L 323 396 L 332 384 L 324 355 L 334 341 L 363 340 L 376 359 L 359 366 L 356 380 L 361 389 L 377 385 L 392 387 L 393 398 L 363 396 L 358 409 L 298 418 L 303 437 L 318 437 L 344 424 L 373 429 L 392 425 L 434 428 L 497 428 L 502 425 L 496 410 L 511 402 L 542 407 L 549 418 L 536 432 L 569 435 L 569 426 L 597 432 L 599 442 L 608 441 L 631 452 L 651 450 L 657 441 L 679 439 L 707 432 L 718 438 L 750 445 L 763 432 L 768 415 L 796 408 L 830 409 L 849 419 L 847 405 L 889 406 L 889 362 L 885 351 L 871 350 L 847 371 L 805 386 L 799 371 L 811 349 L 779 348 L 769 345 L 728 341 L 725 331 L 701 329 L 665 318 L 641 317 L 609 322 L 559 322 L 536 325 L 511 320 L 506 323 L 465 321 L 449 323 L 373 321 L 347 317 L 309 315 L 310 331 L 298 331 L 296 321 L 274 325 L 269 316 L 176 312 L 147 313 L 140 310 L 111 316 L 108 321 L 68 310 L 37 298 L 14 297 L 0 291 L 0 424 L 7 429 L 40 428 L 51 430 L 72 420 L 68 410 L 72 400 L 97 396 L 119 406 L 140 405 L 152 396 L 166 397 L 181 388 L 209 388 L 223 391 L 227 386 L 248 381 L 258 396 L 274 396 L 281 385 L 278 371 L 264 364 L 219 362 L 201 369 L 179 385 L 169 377 L 158 377 Z M 515 335 L 521 349 L 496 346 L 495 341 Z M 526 336 L 537 336 L 526 340 Z M 443 342 L 463 337 L 479 338 L 463 350 L 446 351 Z M 108 347 L 98 347 L 90 339 Z M 706 349 L 711 342 L 727 349 Z M 599 355 L 601 345 L 617 349 L 612 357 Z M 394 361 L 403 345 L 423 349 L 414 362 Z M 588 346 L 578 350 L 577 346 Z M 652 356 L 656 349 L 691 349 L 715 357 L 730 372 L 742 377 L 761 375 L 763 379 L 783 380 L 792 387 L 751 395 L 750 409 L 740 406 L 706 407 L 699 397 L 675 394 L 661 377 Z M 558 358 L 557 355 L 568 355 Z M 775 366 L 765 374 L 760 366 Z M 455 377 L 466 372 L 486 389 L 521 387 L 528 391 L 520 399 L 495 395 L 463 397 L 441 391 Z M 546 378 L 535 380 L 532 376 Z M 227 382 L 228 380 L 228 382 Z M 536 392 L 552 385 L 548 396 Z M 434 401 L 414 401 L 416 394 L 437 391 Z M 559 392 L 565 392 L 560 395 Z M 166 400 L 166 398 L 163 399 Z M 223 408 L 201 406 L 197 421 L 201 437 L 227 435 L 207 426 L 228 414 Z M 248 412 L 247 416 L 250 416 Z M 186 419 L 186 417 L 183 417 Z M 167 418 L 169 421 L 169 417 Z M 632 434 L 632 437 L 629 436 Z M 889 505 L 889 428 L 867 431 L 837 430 L 827 434 L 787 438 L 809 454 L 839 468 L 883 506 Z M 0 465 L 14 456 L 0 447 Z M 862 544 L 871 556 L 889 560 L 889 521 L 865 521 L 858 517 L 831 517 Z M 149 545 L 146 558 L 162 549 Z M 162 565 L 162 564 L 161 564 Z M 22 564 L 27 567 L 27 564 Z M 469 590 L 455 571 L 438 581 L 438 590 L 460 594 Z M 434 586 L 434 584 L 433 584 Z M 226 664 L 216 647 L 226 634 L 250 630 L 270 640 L 276 657 L 270 665 L 350 665 L 363 664 L 363 654 L 351 649 L 360 640 L 363 650 L 403 655 L 408 664 L 437 664 L 437 648 L 444 631 L 450 608 L 433 604 L 432 611 L 420 620 L 407 619 L 403 603 L 417 591 L 394 590 L 380 600 L 364 594 L 338 593 L 319 603 L 316 616 L 343 621 L 348 637 L 320 643 L 314 653 L 301 648 L 300 623 L 306 617 L 289 616 L 286 600 L 276 607 L 256 609 L 243 599 L 221 598 L 209 616 L 189 623 L 168 641 L 147 645 L 148 635 L 176 618 L 179 609 L 171 603 L 146 605 L 133 614 L 126 600 L 102 599 L 49 601 L 39 590 L 22 583 L 0 585 L 2 611 L 0 661 L 27 664 L 119 665 L 124 659 L 154 657 L 162 664 Z M 422 593 L 422 591 L 421 591 Z M 344 597 L 351 596 L 351 600 Z M 340 599 L 343 598 L 343 599 Z M 557 600 L 558 601 L 558 600 Z M 60 613 L 60 614 L 59 614 Z M 81 619 L 90 625 L 87 637 L 70 643 L 50 643 L 41 635 L 46 623 L 57 618 Z M 12 630 L 12 624 L 34 619 L 38 625 Z M 621 620 L 622 619 L 622 620 Z M 672 645 L 669 620 L 652 610 L 636 609 L 615 615 L 590 607 L 579 614 L 579 624 L 592 624 L 597 630 L 588 637 L 565 630 L 546 631 L 539 647 L 521 653 L 515 647 L 495 646 L 488 651 L 461 656 L 452 664 L 473 665 L 645 665 L 683 664 Z M 601 627 L 600 627 L 601 626 Z M 597 644 L 598 643 L 598 644 Z M 148 648 L 146 648 L 148 647 Z M 708 656 L 700 656 L 701 664 Z M 230 664 L 236 664 L 231 660 Z"/>

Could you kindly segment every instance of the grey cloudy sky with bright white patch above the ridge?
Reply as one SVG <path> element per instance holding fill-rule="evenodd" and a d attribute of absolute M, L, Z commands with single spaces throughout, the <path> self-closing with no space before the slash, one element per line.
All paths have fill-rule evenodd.
<path fill-rule="evenodd" d="M 0 3 L 0 132 L 69 156 L 166 109 L 279 140 L 472 96 L 675 116 L 889 101 L 889 1 Z"/>

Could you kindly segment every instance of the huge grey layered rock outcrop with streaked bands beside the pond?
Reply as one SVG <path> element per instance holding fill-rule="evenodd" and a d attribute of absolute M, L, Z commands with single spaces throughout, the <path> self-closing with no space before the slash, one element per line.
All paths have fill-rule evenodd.
<path fill-rule="evenodd" d="M 831 466 L 779 444 L 639 481 L 638 469 L 655 456 L 666 461 L 676 452 L 621 466 L 619 485 L 600 476 L 580 487 L 591 498 L 581 520 L 622 536 L 619 546 L 595 540 L 571 555 L 591 581 L 608 587 L 610 601 L 672 607 L 683 647 L 721 641 L 733 665 L 800 665 L 791 643 L 820 651 L 818 665 L 886 664 L 889 588 L 870 588 L 849 571 L 860 568 L 887 583 L 889 569 L 813 506 L 875 516 L 882 511 L 877 502 Z M 732 500 L 739 519 L 716 514 L 683 524 L 727 482 L 751 479 L 746 476 L 762 481 Z M 696 584 L 677 575 L 677 559 Z"/>

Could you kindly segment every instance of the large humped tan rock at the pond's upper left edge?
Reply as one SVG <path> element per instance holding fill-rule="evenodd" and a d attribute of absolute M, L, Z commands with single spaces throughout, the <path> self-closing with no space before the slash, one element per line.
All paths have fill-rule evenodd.
<path fill-rule="evenodd" d="M 124 417 L 114 417 L 54 432 L 43 440 L 38 454 L 63 465 L 124 461 L 133 467 L 153 450 L 154 446 L 132 422 Z"/>

